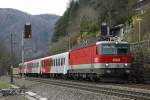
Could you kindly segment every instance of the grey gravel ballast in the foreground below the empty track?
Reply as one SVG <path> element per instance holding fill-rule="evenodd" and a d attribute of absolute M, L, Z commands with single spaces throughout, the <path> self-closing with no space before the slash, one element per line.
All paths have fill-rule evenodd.
<path fill-rule="evenodd" d="M 1 79 L 5 81 L 9 80 L 7 77 L 2 77 Z M 28 87 L 26 91 L 37 93 L 42 97 L 48 98 L 48 100 L 130 100 L 117 96 L 110 96 L 100 93 L 96 94 L 84 90 L 31 82 L 22 79 L 14 79 L 14 82 L 18 86 L 25 85 Z"/>

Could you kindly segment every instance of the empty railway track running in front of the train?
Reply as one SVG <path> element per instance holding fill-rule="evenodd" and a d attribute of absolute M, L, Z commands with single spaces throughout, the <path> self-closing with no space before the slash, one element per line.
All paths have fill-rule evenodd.
<path fill-rule="evenodd" d="M 85 84 L 80 82 L 72 82 L 72 81 L 62 81 L 62 80 L 50 80 L 50 79 L 41 79 L 41 78 L 27 78 L 29 81 L 41 82 L 45 84 L 63 86 L 68 88 L 80 89 L 89 92 L 94 92 L 96 94 L 106 94 L 113 95 L 122 98 L 129 98 L 133 100 L 150 100 L 150 91 L 139 89 L 133 90 L 129 88 L 121 88 L 121 86 L 113 85 L 94 85 L 94 84 Z"/>

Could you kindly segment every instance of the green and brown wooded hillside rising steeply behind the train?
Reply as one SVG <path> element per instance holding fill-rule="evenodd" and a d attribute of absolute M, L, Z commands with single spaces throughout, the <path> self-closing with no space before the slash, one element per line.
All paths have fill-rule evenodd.
<path fill-rule="evenodd" d="M 132 21 L 133 5 L 138 0 L 72 0 L 57 21 L 49 53 L 59 53 L 86 39 L 100 37 L 100 25 L 110 27 Z M 63 42 L 62 42 L 63 41 Z M 63 46 L 62 46 L 63 45 Z"/>

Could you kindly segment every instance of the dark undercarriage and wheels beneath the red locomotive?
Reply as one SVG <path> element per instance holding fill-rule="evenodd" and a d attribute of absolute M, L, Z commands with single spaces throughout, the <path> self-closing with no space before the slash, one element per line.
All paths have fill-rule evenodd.
<path fill-rule="evenodd" d="M 72 69 L 68 71 L 71 79 L 121 81 L 128 80 L 129 68 L 97 68 L 97 69 Z"/>

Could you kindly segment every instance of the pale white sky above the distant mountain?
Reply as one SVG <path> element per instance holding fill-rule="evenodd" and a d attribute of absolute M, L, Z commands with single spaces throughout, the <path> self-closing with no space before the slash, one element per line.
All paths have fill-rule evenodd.
<path fill-rule="evenodd" d="M 32 15 L 63 15 L 69 0 L 0 0 L 0 8 L 14 8 Z"/>

